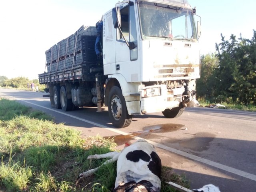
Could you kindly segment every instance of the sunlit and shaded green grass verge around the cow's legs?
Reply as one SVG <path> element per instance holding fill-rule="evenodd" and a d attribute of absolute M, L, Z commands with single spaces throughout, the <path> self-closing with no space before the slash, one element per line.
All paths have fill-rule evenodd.
<path fill-rule="evenodd" d="M 85 170 L 103 164 L 106 159 L 86 158 L 113 151 L 113 140 L 101 136 L 82 138 L 77 130 L 55 124 L 50 116 L 15 101 L 0 99 L 0 114 L 0 191 L 112 191 L 116 163 L 102 166 L 82 182 L 77 178 Z M 171 168 L 162 168 L 162 181 L 188 187 L 184 177 L 171 172 Z M 175 190 L 162 182 L 162 191 Z"/>

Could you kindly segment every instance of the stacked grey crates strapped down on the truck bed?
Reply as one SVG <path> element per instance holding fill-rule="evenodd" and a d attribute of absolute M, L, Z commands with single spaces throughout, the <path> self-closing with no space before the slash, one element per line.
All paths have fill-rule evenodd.
<path fill-rule="evenodd" d="M 96 37 L 96 27 L 82 26 L 74 34 L 46 50 L 47 71 L 54 73 L 85 66 L 89 72 L 91 63 L 96 63 L 97 60 L 94 50 Z"/>

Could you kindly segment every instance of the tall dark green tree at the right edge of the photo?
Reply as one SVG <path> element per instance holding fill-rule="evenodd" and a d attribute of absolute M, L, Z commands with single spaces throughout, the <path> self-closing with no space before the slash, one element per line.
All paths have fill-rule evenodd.
<path fill-rule="evenodd" d="M 221 37 L 222 42 L 216 44 L 216 93 L 242 104 L 256 104 L 256 31 L 251 40 L 240 35 L 237 41 L 233 34 L 230 42 Z"/>

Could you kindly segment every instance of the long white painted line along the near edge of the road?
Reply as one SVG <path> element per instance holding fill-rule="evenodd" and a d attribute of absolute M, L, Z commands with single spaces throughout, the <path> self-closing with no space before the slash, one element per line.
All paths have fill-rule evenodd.
<path fill-rule="evenodd" d="M 3 93 L 2 93 L 3 94 Z M 6 95 L 6 94 L 4 94 Z M 12 96 L 10 96 L 12 97 Z M 12 97 L 12 98 L 15 98 L 15 97 Z M 20 101 L 23 101 L 23 102 L 26 102 L 26 103 L 29 103 L 29 104 L 32 104 L 32 105 L 35 105 L 35 106 L 38 106 L 38 107 L 41 107 L 41 108 L 45 108 L 47 110 L 51 110 L 51 111 L 54 111 L 54 112 L 57 112 L 57 113 L 60 113 L 60 114 L 63 114 L 63 115 L 66 115 L 66 116 L 69 116 L 69 117 L 72 117 L 72 118 L 75 118 L 77 120 L 80 120 L 80 121 L 83 121 L 83 122 L 86 122 L 86 123 L 90 123 L 94 126 L 98 126 L 98 127 L 101 127 L 101 128 L 104 128 L 106 130 L 109 130 L 109 131 L 112 131 L 112 132 L 115 132 L 115 133 L 118 133 L 118 134 L 121 134 L 121 135 L 130 135 L 129 133 L 126 133 L 126 132 L 123 132 L 123 131 L 120 131 L 120 130 L 117 130 L 115 128 L 110 128 L 108 126 L 104 126 L 102 124 L 98 124 L 98 123 L 95 123 L 95 122 L 92 122 L 92 121 L 89 121 L 89 120 L 86 120 L 86 119 L 83 119 L 83 118 L 79 118 L 79 117 L 76 117 L 76 116 L 73 116 L 73 115 L 70 115 L 70 114 L 66 114 L 64 112 L 61 112 L 61 111 L 57 111 L 57 110 L 54 110 L 54 109 L 51 109 L 51 108 L 47 108 L 47 107 L 44 107 L 44 106 L 40 106 L 38 104 L 34 104 L 34 103 L 31 103 L 31 102 L 28 102 L 28 101 L 25 101 L 25 100 L 22 100 L 22 99 L 19 99 L 19 98 L 15 98 L 16 100 L 20 100 Z M 134 136 L 132 137 L 136 140 L 138 139 L 142 139 L 138 136 Z M 146 140 L 146 139 L 145 139 Z M 220 163 L 216 163 L 214 161 L 211 161 L 211 160 L 207 160 L 207 159 L 204 159 L 204 158 L 201 158 L 201 157 L 198 157 L 198 156 L 195 156 L 195 155 L 192 155 L 192 154 L 189 154 L 189 153 L 186 153 L 186 152 L 183 152 L 183 151 L 180 151 L 180 150 L 177 150 L 177 149 L 174 149 L 174 148 L 171 148 L 171 147 L 168 147 L 168 146 L 165 146 L 165 145 L 162 145 L 162 144 L 159 144 L 159 143 L 156 143 L 156 142 L 153 142 L 153 141 L 150 141 L 150 140 L 146 140 L 148 141 L 149 143 L 153 144 L 154 146 L 158 147 L 158 148 L 162 148 L 164 150 L 168 150 L 170 152 L 173 152 L 173 153 L 176 153 L 176 154 L 179 154 L 181 156 L 184 156 L 186 158 L 190 158 L 192 160 L 196 160 L 198 162 L 202 162 L 204 164 L 208 164 L 210 166 L 213 166 L 213 167 L 216 167 L 216 168 L 219 168 L 219 169 L 222 169 L 224 171 L 227 171 L 227 172 L 230 172 L 230 173 L 233 173 L 233 174 L 236 174 L 238 176 L 242 176 L 244 178 L 248 178 L 250 180 L 254 180 L 256 181 L 256 175 L 254 174 L 250 174 L 250 173 L 247 173 L 247 172 L 244 172 L 244 171 L 241 171 L 241 170 L 238 170 L 238 169 L 235 169 L 235 168 L 232 168 L 232 167 L 229 167 L 229 166 L 226 166 L 226 165 L 222 165 Z"/>

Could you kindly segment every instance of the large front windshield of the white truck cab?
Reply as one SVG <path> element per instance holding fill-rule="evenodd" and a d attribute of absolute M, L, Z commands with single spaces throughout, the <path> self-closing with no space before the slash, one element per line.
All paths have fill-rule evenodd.
<path fill-rule="evenodd" d="M 142 39 L 197 40 L 192 9 L 147 1 L 138 4 Z"/>

